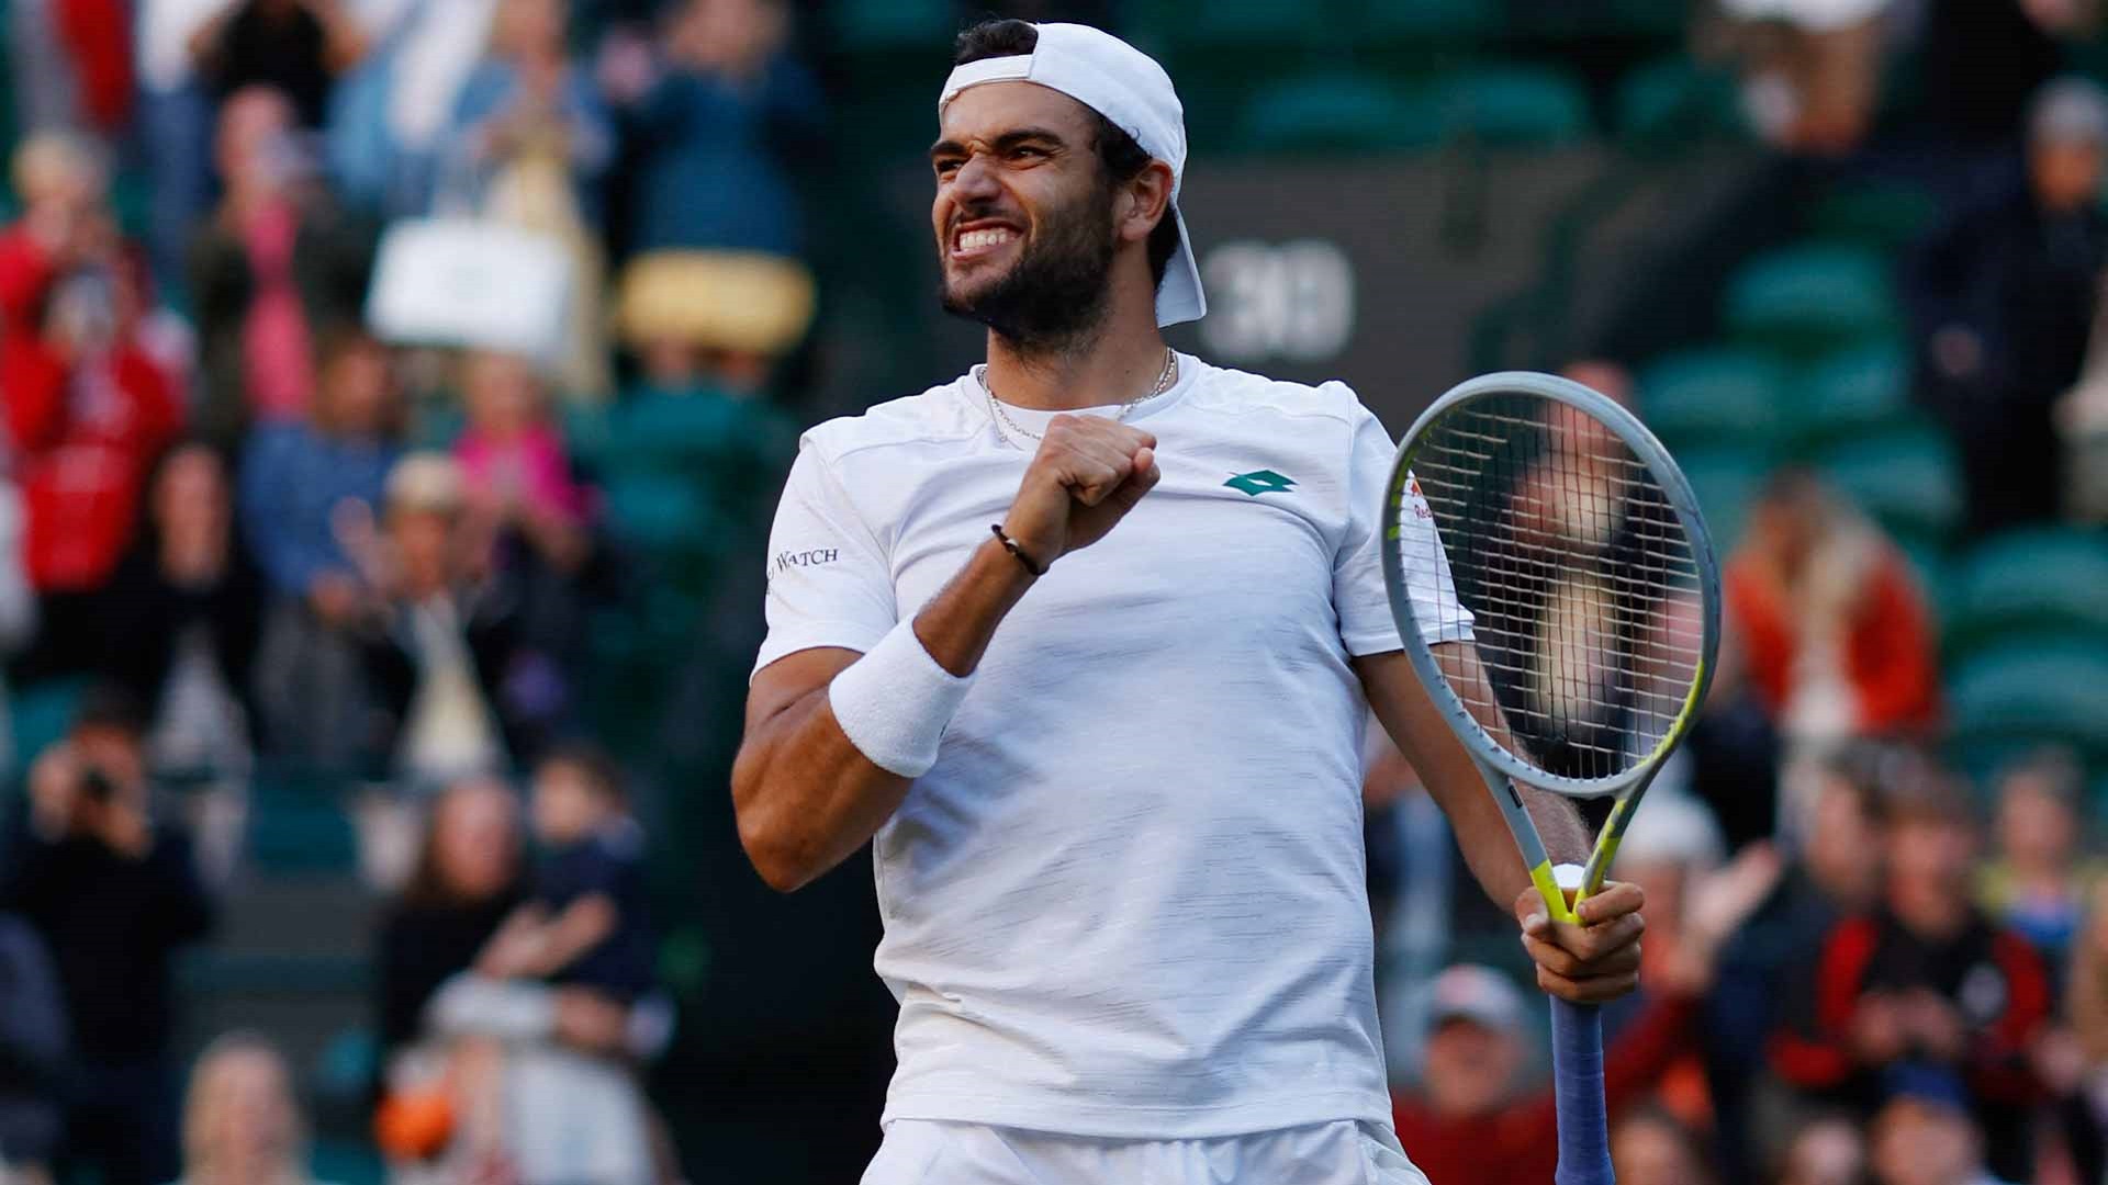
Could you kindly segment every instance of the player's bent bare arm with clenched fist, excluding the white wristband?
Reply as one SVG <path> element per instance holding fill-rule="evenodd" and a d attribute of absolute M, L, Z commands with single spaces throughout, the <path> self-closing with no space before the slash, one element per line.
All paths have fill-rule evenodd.
<path fill-rule="evenodd" d="M 1033 561 L 1050 565 L 1113 529 L 1157 477 L 1149 432 L 1102 417 L 1056 417 L 1003 517 L 1003 533 Z M 797 481 L 793 474 L 793 485 Z M 786 504 L 790 498 L 786 491 Z M 780 512 L 778 529 L 782 523 Z M 873 584 L 881 578 L 871 574 L 864 580 L 866 616 L 877 599 Z M 841 584 L 854 601 L 852 580 Z M 1033 580 L 991 533 L 915 614 L 913 641 L 944 675 L 970 677 L 995 628 Z M 788 601 L 795 597 L 772 595 L 772 633 L 786 624 L 797 628 L 782 616 L 841 616 L 841 605 L 824 603 L 824 597 L 799 599 L 805 603 L 797 605 Z M 873 654 L 877 649 L 871 647 Z M 852 740 L 852 732 L 860 730 L 845 727 L 835 713 L 831 687 L 858 662 L 864 662 L 864 652 L 843 645 L 795 649 L 757 671 L 748 687 L 746 738 L 731 765 L 731 803 L 740 843 L 772 888 L 795 890 L 845 860 L 892 818 L 913 782 L 913 776 L 887 768 L 896 761 L 881 763 L 864 753 Z M 913 694 L 909 683 L 902 683 L 902 694 Z M 913 708 L 904 704 L 900 715 L 915 717 Z M 934 723 L 942 727 L 942 721 Z"/>

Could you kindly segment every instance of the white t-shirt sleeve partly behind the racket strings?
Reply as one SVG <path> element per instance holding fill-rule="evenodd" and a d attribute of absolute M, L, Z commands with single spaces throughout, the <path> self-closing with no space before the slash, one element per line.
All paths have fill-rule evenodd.
<path fill-rule="evenodd" d="M 1391 597 L 1383 588 L 1383 485 L 1391 479 L 1398 443 L 1383 430 L 1372 411 L 1353 405 L 1353 441 L 1347 462 L 1347 533 L 1332 561 L 1332 607 L 1339 611 L 1339 637 L 1347 654 L 1383 654 L 1404 645 L 1391 616 Z M 1465 641 L 1471 637 L 1471 614 L 1457 601 L 1448 557 L 1436 538 L 1433 510 L 1410 487 L 1398 523 L 1400 555 L 1406 557 L 1406 588 L 1412 595 L 1412 620 L 1429 643 Z"/>

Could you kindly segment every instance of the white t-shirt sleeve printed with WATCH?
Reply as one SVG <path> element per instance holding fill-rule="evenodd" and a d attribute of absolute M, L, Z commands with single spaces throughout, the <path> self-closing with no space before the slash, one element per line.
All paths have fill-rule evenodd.
<path fill-rule="evenodd" d="M 809 439 L 776 506 L 767 565 L 769 635 L 755 671 L 801 649 L 866 652 L 898 622 L 879 540 Z"/>

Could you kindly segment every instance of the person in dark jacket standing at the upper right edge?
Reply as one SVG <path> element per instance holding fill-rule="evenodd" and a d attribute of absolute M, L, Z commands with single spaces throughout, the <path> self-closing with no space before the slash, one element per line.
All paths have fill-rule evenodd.
<path fill-rule="evenodd" d="M 2104 150 L 2108 95 L 2076 78 L 2047 84 L 2028 116 L 2026 183 L 1977 202 L 1912 259 L 1922 394 L 1960 447 L 1973 533 L 2057 514 L 2051 409 L 2078 380 L 2108 266 Z"/>

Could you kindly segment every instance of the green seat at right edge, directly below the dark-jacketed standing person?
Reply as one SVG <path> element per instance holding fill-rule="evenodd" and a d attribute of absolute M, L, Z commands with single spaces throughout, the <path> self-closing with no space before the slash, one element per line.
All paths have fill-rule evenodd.
<path fill-rule="evenodd" d="M 1948 656 L 2032 635 L 2108 643 L 2108 540 L 2095 533 L 1996 536 L 1969 550 L 1946 586 Z"/>

